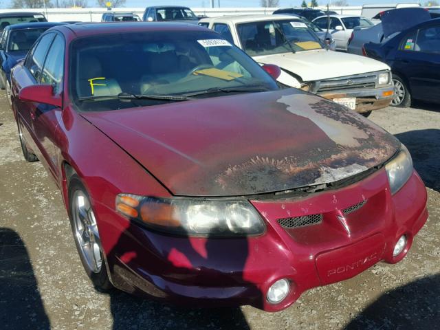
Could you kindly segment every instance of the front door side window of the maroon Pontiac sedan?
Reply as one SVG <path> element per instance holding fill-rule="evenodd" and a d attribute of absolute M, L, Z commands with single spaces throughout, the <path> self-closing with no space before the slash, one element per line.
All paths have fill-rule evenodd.
<path fill-rule="evenodd" d="M 47 52 L 46 60 L 41 74 L 41 83 L 54 87 L 54 93 L 58 93 L 63 82 L 64 69 L 64 40 L 57 35 Z"/>

